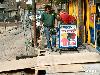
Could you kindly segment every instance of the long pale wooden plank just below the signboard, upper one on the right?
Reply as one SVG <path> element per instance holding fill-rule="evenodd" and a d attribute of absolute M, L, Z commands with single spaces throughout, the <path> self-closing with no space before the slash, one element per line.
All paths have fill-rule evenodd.
<path fill-rule="evenodd" d="M 37 57 L 37 66 L 88 62 L 100 62 L 100 55 L 96 52 L 85 52 Z"/>

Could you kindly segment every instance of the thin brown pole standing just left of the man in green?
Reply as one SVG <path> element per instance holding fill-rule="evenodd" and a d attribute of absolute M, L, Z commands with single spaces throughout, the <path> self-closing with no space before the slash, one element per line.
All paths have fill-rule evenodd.
<path fill-rule="evenodd" d="M 37 39 L 36 39 L 36 3 L 35 0 L 32 0 L 32 15 L 33 15 L 33 30 L 34 30 L 34 38 L 32 38 L 32 41 L 34 43 L 34 47 L 37 47 Z"/>

